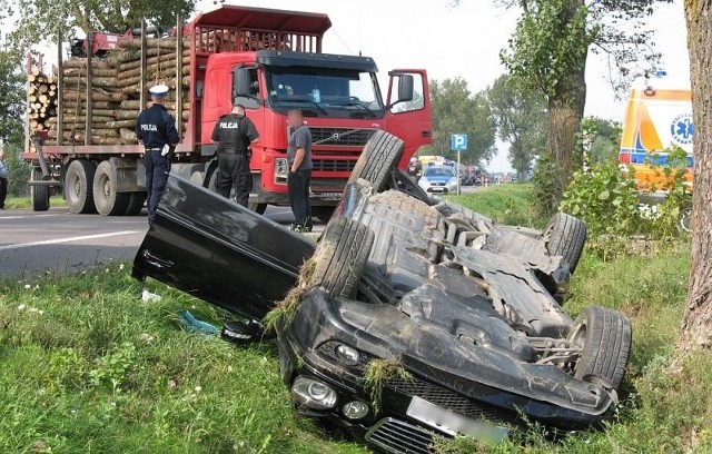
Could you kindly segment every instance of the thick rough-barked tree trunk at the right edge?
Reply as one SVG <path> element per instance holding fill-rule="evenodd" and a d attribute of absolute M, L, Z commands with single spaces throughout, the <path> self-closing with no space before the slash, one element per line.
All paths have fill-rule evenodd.
<path fill-rule="evenodd" d="M 712 0 L 685 0 L 692 110 L 694 193 L 692 266 L 681 347 L 712 347 Z"/>

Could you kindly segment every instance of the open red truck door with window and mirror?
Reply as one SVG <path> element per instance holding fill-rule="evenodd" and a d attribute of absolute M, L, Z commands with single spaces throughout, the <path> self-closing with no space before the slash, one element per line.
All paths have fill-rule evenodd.
<path fill-rule="evenodd" d="M 433 142 L 427 72 L 424 69 L 397 69 L 388 75 L 386 130 L 405 141 L 405 151 L 398 164 L 405 169 L 418 148 Z"/>

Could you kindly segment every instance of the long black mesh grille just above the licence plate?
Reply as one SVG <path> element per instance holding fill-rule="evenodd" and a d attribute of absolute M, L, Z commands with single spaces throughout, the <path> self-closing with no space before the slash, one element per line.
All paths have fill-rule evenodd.
<path fill-rule="evenodd" d="M 408 396 L 418 396 L 432 404 L 473 420 L 488 420 L 511 424 L 521 423 L 514 412 L 475 402 L 422 379 L 392 378 L 386 383 L 386 387 Z"/>

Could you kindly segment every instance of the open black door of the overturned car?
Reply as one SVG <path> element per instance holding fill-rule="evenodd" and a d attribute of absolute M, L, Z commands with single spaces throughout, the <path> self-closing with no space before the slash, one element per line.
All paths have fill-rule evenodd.
<path fill-rule="evenodd" d="M 134 261 L 152 277 L 230 312 L 261 318 L 296 282 L 314 243 L 170 175 Z"/>

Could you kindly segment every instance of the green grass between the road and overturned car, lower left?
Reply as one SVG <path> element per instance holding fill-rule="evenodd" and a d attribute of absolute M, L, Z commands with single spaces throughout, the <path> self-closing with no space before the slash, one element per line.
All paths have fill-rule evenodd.
<path fill-rule="evenodd" d="M 291 407 L 273 342 L 181 329 L 225 314 L 128 267 L 0 284 L 2 453 L 366 453 Z"/>

